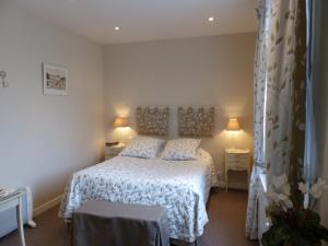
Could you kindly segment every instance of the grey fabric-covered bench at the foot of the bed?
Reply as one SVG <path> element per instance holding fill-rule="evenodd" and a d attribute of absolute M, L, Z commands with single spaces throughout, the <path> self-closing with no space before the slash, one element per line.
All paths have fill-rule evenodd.
<path fill-rule="evenodd" d="M 169 246 L 161 207 L 89 201 L 73 213 L 73 246 Z"/>

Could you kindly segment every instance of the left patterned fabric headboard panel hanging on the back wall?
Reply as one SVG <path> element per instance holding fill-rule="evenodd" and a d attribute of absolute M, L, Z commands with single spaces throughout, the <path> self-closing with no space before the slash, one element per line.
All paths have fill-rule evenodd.
<path fill-rule="evenodd" d="M 138 107 L 136 115 L 139 134 L 167 136 L 168 107 Z"/>

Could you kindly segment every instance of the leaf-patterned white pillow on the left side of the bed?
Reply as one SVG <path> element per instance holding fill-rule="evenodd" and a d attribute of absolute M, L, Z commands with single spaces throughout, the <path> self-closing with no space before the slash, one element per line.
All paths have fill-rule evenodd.
<path fill-rule="evenodd" d="M 163 145 L 164 140 L 150 138 L 150 137 L 136 137 L 127 145 L 126 149 L 120 152 L 122 156 L 142 157 L 142 159 L 155 159 Z"/>

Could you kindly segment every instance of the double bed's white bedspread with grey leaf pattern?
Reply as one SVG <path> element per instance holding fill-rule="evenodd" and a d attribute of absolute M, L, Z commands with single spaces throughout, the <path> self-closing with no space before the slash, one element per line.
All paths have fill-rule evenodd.
<path fill-rule="evenodd" d="M 195 242 L 208 222 L 206 204 L 216 185 L 211 155 L 199 149 L 195 161 L 117 156 L 72 175 L 59 216 L 89 200 L 161 206 L 166 209 L 169 236 Z"/>

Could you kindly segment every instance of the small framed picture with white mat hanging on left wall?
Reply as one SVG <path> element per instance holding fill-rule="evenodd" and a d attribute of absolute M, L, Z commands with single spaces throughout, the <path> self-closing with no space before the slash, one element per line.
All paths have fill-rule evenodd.
<path fill-rule="evenodd" d="M 62 67 L 43 63 L 44 94 L 68 95 L 68 70 Z"/>

